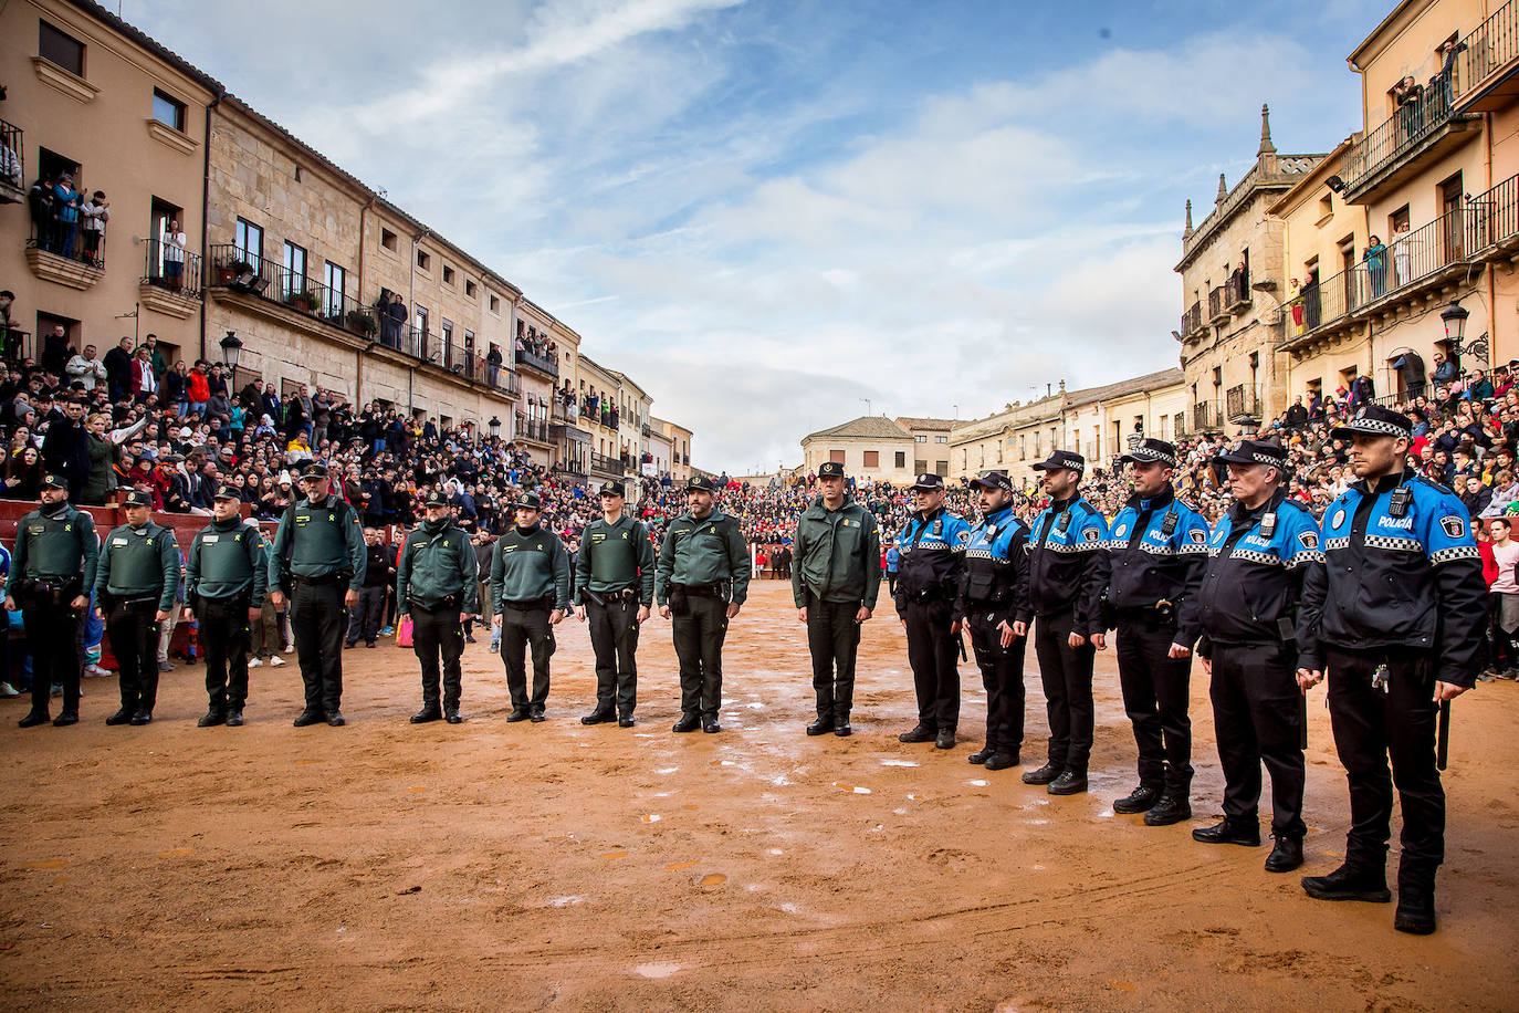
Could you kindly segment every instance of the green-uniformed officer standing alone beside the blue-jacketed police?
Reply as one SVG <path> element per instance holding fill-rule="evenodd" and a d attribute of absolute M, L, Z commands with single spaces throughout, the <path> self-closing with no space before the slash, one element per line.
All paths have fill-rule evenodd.
<path fill-rule="evenodd" d="M 881 533 L 875 516 L 845 491 L 843 465 L 819 465 L 817 484 L 823 494 L 796 521 L 791 595 L 797 620 L 807 624 L 817 694 L 817 720 L 807 734 L 845 737 L 852 731 L 860 624 L 881 594 Z"/>

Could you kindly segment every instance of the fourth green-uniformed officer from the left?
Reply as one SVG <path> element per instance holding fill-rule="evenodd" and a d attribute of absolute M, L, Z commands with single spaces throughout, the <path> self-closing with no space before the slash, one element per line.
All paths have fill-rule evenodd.
<path fill-rule="evenodd" d="M 296 727 L 327 720 L 343 724 L 343 627 L 348 606 L 358 603 L 365 582 L 365 530 L 358 512 L 331 494 L 327 468 L 307 465 L 301 474 L 305 498 L 279 518 L 269 553 L 269 598 L 275 607 L 290 600 L 305 709 Z"/>

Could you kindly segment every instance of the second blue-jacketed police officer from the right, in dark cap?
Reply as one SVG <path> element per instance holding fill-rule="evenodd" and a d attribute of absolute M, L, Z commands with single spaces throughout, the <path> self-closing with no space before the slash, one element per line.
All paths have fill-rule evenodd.
<path fill-rule="evenodd" d="M 1208 544 L 1197 595 L 1203 638 L 1197 653 L 1212 676 L 1214 726 L 1224 770 L 1224 819 L 1192 831 L 1206 844 L 1261 846 L 1261 764 L 1271 773 L 1267 872 L 1303 864 L 1303 700 L 1297 655 L 1317 629 L 1299 607 L 1306 576 L 1323 566 L 1318 525 L 1287 498 L 1287 451 L 1241 440 L 1215 460 L 1229 466 L 1235 503 Z"/>

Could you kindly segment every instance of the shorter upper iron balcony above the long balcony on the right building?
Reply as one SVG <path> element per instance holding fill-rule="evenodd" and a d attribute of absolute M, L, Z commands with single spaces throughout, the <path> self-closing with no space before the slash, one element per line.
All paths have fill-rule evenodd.
<path fill-rule="evenodd" d="M 1451 150 L 1480 126 L 1480 115 L 1454 111 L 1451 79 L 1445 74 L 1416 88 L 1416 97 L 1346 150 L 1340 175 L 1347 204 L 1364 204 L 1384 187 L 1401 182 L 1417 169 L 1416 159 Z"/>

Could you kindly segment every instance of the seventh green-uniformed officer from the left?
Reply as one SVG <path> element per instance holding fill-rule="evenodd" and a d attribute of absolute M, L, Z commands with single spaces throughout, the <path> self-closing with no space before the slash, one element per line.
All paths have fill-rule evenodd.
<path fill-rule="evenodd" d="M 617 720 L 633 726 L 638 705 L 638 627 L 655 601 L 655 547 L 649 529 L 623 513 L 621 481 L 602 486 L 602 516 L 580 536 L 574 568 L 576 618 L 591 621 L 595 650 L 595 709 L 582 724 Z M 615 708 L 614 708 L 615 702 Z"/>

